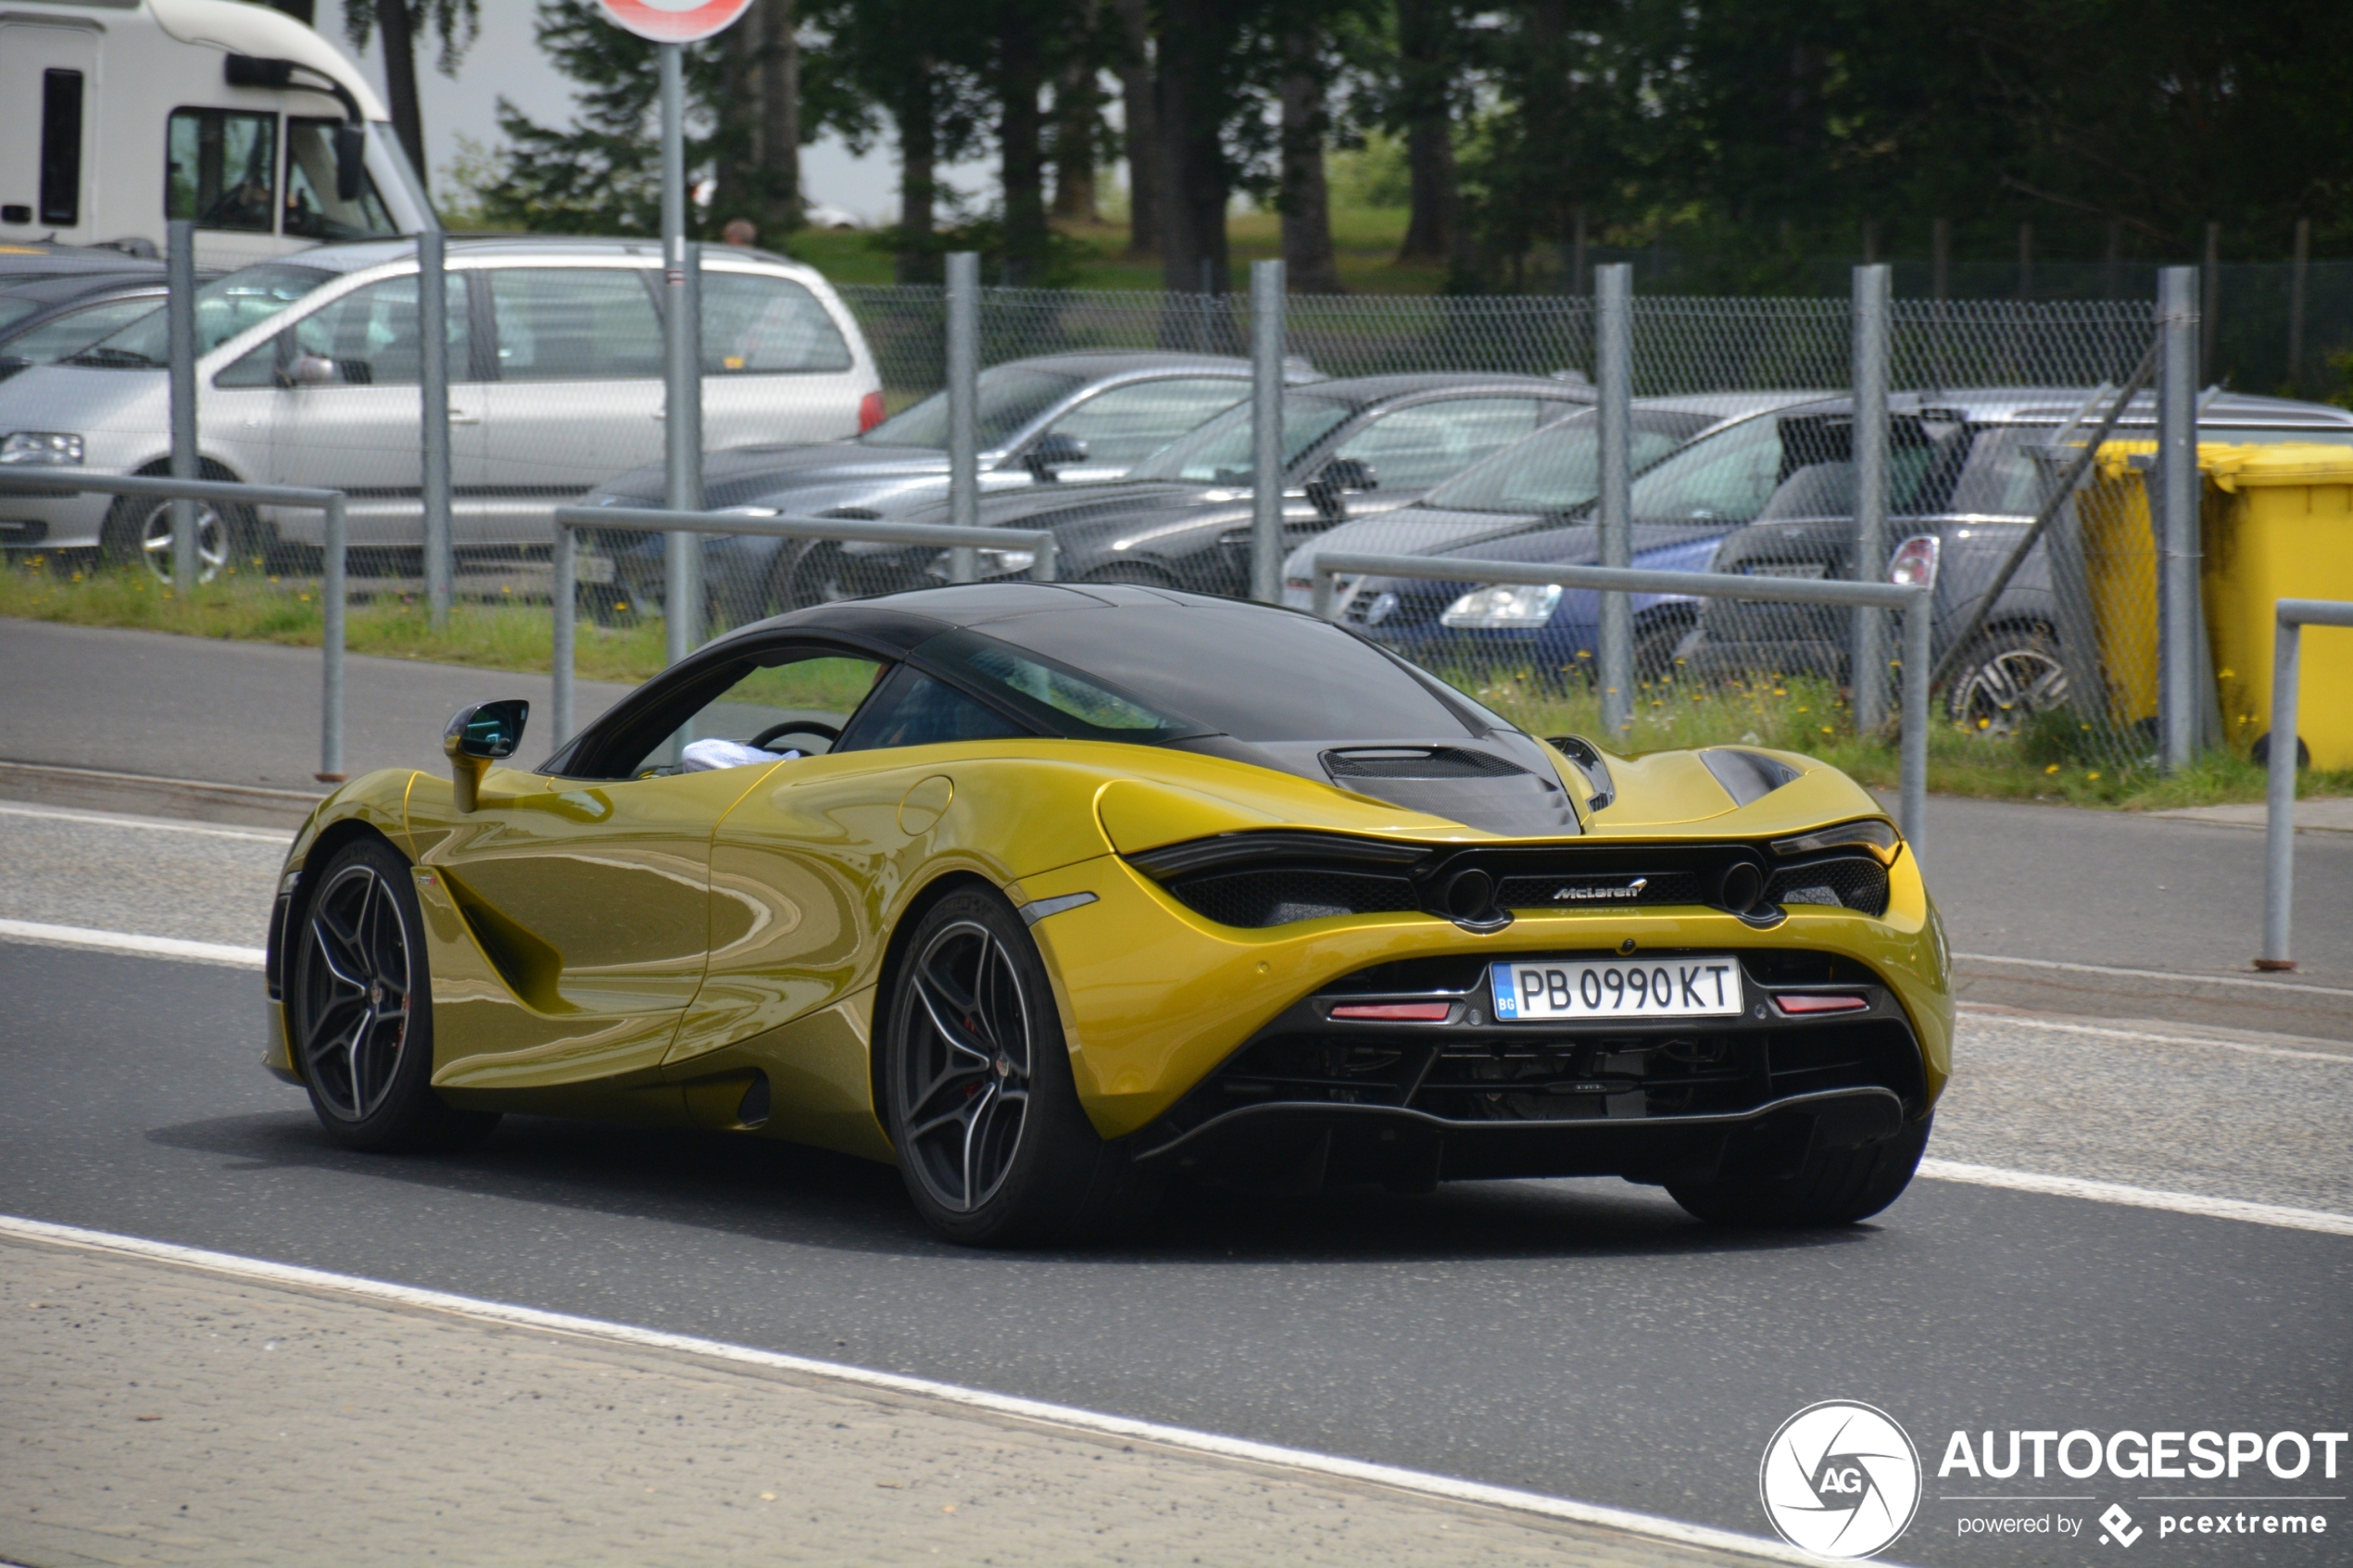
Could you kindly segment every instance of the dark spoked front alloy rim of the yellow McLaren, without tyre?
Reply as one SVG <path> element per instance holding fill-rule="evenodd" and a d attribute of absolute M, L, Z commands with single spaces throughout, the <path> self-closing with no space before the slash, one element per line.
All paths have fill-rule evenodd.
<path fill-rule="evenodd" d="M 409 1039 L 409 931 L 372 865 L 346 865 L 311 903 L 301 1051 L 311 1086 L 344 1121 L 393 1091 Z"/>

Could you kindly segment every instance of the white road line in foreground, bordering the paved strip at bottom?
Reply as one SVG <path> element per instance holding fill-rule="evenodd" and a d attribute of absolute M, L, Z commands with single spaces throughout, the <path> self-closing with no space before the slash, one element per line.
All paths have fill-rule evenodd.
<path fill-rule="evenodd" d="M 708 1356 L 715 1361 L 734 1361 L 741 1366 L 760 1366 L 772 1371 L 798 1373 L 802 1378 L 828 1378 L 833 1382 L 852 1382 L 868 1389 L 882 1389 L 887 1394 L 915 1394 L 920 1399 L 936 1399 L 941 1403 L 967 1406 L 995 1415 L 1052 1422 L 1056 1427 L 1075 1427 L 1080 1432 L 1094 1432 L 1101 1436 L 1144 1439 L 1148 1443 L 1184 1448 L 1188 1453 L 1207 1453 L 1226 1460 L 1249 1460 L 1254 1465 L 1280 1465 L 1287 1469 L 1304 1469 L 1311 1474 L 1334 1476 L 1341 1481 L 1369 1481 L 1374 1486 L 1391 1486 L 1395 1490 L 1421 1493 L 1426 1497 L 1442 1497 L 1447 1502 L 1478 1502 L 1487 1507 L 1513 1509 L 1520 1514 L 1539 1514 L 1544 1519 L 1562 1519 L 1569 1523 L 1600 1526 L 1605 1530 L 1624 1530 L 1628 1535 L 1647 1535 L 1652 1540 L 1673 1540 L 1687 1547 L 1704 1547 L 1713 1552 L 1741 1552 L 1746 1556 L 1758 1556 L 1777 1563 L 1805 1563 L 1809 1568 L 1821 1568 L 1821 1559 L 1784 1547 L 1777 1540 L 1762 1540 L 1758 1535 L 1739 1535 L 1734 1530 L 1715 1530 L 1711 1526 L 1682 1523 L 1678 1519 L 1659 1519 L 1657 1514 L 1635 1514 L 1631 1509 L 1612 1509 L 1593 1502 L 1574 1502 L 1569 1497 L 1548 1497 L 1544 1493 L 1522 1493 L 1508 1486 L 1459 1481 L 1454 1476 L 1435 1476 L 1419 1469 L 1400 1469 L 1395 1465 L 1369 1465 L 1365 1460 L 1344 1460 L 1339 1455 L 1315 1453 L 1311 1448 L 1257 1443 L 1240 1436 L 1219 1436 L 1217 1432 L 1193 1432 L 1191 1427 L 1165 1427 L 1160 1422 L 1132 1420 L 1127 1415 L 1108 1415 L 1104 1410 L 1056 1406 L 1040 1399 L 1019 1399 L 1014 1394 L 991 1394 L 988 1389 L 967 1389 L 953 1382 L 932 1382 L 929 1378 L 901 1378 L 896 1373 L 878 1373 L 864 1366 L 847 1366 L 842 1361 L 788 1356 L 774 1349 L 727 1345 L 725 1340 L 701 1340 L 685 1333 L 664 1333 L 659 1328 L 638 1328 L 633 1324 L 607 1324 L 602 1319 L 572 1316 L 565 1312 L 541 1312 L 536 1307 L 513 1307 L 508 1302 L 492 1302 L 473 1295 L 452 1295 L 447 1291 L 395 1286 L 381 1279 L 360 1279 L 355 1274 L 306 1269 L 292 1262 L 264 1262 L 259 1258 L 238 1258 L 235 1253 L 212 1253 L 193 1246 L 174 1246 L 169 1241 L 148 1241 L 144 1237 L 120 1237 L 115 1232 L 85 1229 L 80 1225 L 52 1225 L 47 1220 L 24 1220 L 16 1215 L 0 1215 L 0 1234 L 26 1237 L 38 1241 L 64 1241 L 68 1246 L 87 1246 L 111 1253 L 132 1253 L 136 1258 L 158 1258 L 165 1262 L 209 1269 L 214 1274 L 228 1274 L 235 1279 L 301 1286 L 308 1291 L 336 1291 L 344 1295 L 395 1302 L 402 1307 L 456 1312 L 464 1316 L 487 1319 L 492 1324 L 511 1324 L 518 1328 L 546 1328 L 555 1333 L 607 1340 L 616 1345 L 638 1345 L 645 1349 L 668 1349 L 689 1356 Z"/>

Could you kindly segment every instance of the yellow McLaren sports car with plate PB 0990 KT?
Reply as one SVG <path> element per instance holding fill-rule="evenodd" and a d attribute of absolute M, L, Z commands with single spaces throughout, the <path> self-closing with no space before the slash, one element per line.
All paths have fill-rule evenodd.
<path fill-rule="evenodd" d="M 1537 741 L 1297 611 L 932 588 L 720 637 L 534 771 L 522 724 L 461 710 L 287 858 L 266 1063 L 351 1147 L 788 1138 L 995 1246 L 1172 1180 L 1842 1225 L 1951 1067 L 1934 905 L 1849 778 Z"/>

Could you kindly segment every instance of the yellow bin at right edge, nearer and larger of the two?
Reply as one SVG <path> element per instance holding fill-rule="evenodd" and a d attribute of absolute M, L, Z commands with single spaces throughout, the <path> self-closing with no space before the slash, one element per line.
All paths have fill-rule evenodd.
<path fill-rule="evenodd" d="M 2280 599 L 2353 599 L 2353 447 L 2200 447 L 2205 611 L 2224 738 L 2271 731 Z M 2353 769 L 2353 628 L 2304 628 L 2297 733 L 2315 769 Z"/>

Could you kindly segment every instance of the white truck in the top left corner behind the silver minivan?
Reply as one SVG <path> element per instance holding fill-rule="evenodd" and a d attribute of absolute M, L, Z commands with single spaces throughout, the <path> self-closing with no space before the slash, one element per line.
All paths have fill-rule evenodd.
<path fill-rule="evenodd" d="M 424 228 L 384 103 L 344 52 L 240 0 L 0 5 L 0 247 L 162 249 L 240 268 Z"/>

